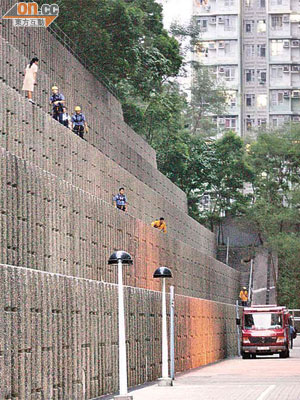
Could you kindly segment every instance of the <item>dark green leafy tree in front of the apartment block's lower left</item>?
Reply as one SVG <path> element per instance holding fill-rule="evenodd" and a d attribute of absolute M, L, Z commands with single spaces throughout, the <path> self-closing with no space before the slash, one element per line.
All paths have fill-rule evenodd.
<path fill-rule="evenodd" d="M 159 136 L 164 141 L 156 147 L 158 164 L 186 193 L 190 216 L 214 231 L 226 215 L 244 214 L 251 200 L 244 183 L 252 181 L 253 173 L 242 139 L 227 132 L 208 142 L 188 130 L 176 132 L 174 137 Z M 208 208 L 202 204 L 204 195 L 210 197 Z"/>

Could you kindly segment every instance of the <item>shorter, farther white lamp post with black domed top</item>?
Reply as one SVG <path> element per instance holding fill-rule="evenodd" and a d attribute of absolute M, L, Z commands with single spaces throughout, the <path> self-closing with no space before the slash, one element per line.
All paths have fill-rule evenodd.
<path fill-rule="evenodd" d="M 167 267 L 160 267 L 153 274 L 153 278 L 162 279 L 162 377 L 158 380 L 159 386 L 172 386 L 168 366 L 168 333 L 166 307 L 166 278 L 172 278 L 172 272 Z"/>

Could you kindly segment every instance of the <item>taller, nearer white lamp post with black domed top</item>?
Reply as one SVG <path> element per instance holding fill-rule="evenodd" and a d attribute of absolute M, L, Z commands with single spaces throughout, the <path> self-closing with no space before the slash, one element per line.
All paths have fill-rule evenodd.
<path fill-rule="evenodd" d="M 118 316 L 119 316 L 119 396 L 118 400 L 132 400 L 128 395 L 127 387 L 127 360 L 125 339 L 124 316 L 124 289 L 123 289 L 123 264 L 132 264 L 132 258 L 126 251 L 115 251 L 108 260 L 108 264 L 118 264 Z"/>

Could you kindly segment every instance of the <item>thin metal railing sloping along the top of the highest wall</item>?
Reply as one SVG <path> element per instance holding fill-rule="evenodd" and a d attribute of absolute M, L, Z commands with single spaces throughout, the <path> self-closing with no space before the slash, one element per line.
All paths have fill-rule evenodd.
<path fill-rule="evenodd" d="M 99 67 L 90 61 L 78 45 L 55 23 L 53 22 L 48 31 L 57 39 L 94 77 L 106 87 L 117 99 L 120 98 L 117 88 L 99 71 Z"/>

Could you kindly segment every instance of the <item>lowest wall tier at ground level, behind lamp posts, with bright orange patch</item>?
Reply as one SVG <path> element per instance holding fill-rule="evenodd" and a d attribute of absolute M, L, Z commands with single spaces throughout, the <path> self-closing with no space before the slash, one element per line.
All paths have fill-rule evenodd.
<path fill-rule="evenodd" d="M 117 287 L 1 265 L 0 398 L 91 399 L 118 387 Z M 125 290 L 129 385 L 161 374 L 159 292 Z M 234 306 L 177 296 L 176 370 L 235 354 Z"/>

